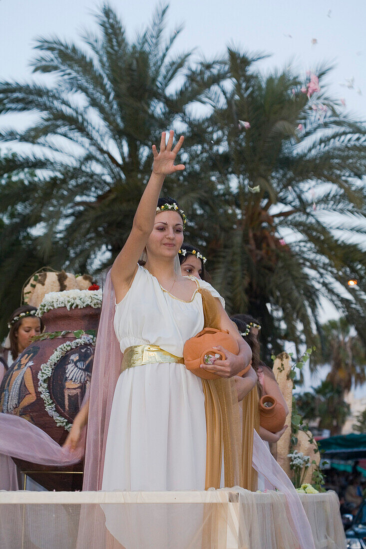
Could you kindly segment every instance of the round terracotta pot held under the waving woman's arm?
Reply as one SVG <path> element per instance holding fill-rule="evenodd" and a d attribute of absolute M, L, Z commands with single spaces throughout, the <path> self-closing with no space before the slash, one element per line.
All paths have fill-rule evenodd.
<path fill-rule="evenodd" d="M 235 338 L 228 330 L 217 330 L 215 328 L 204 328 L 202 332 L 195 335 L 186 341 L 183 349 L 184 364 L 187 370 L 203 379 L 219 379 L 220 376 L 207 372 L 200 368 L 199 365 L 204 364 L 205 355 L 220 355 L 217 360 L 225 360 L 223 352 L 213 349 L 221 345 L 224 349 L 237 355 L 239 353 L 239 345 Z"/>

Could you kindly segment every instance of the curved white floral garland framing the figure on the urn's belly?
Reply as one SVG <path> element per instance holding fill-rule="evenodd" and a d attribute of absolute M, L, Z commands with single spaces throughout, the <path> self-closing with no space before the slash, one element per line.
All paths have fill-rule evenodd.
<path fill-rule="evenodd" d="M 52 355 L 48 358 L 48 361 L 45 364 L 42 364 L 40 371 L 38 372 L 38 390 L 40 391 L 41 399 L 45 402 L 45 409 L 49 416 L 51 416 L 56 422 L 57 427 L 63 427 L 66 431 L 71 430 L 72 423 L 68 422 L 67 419 L 60 416 L 56 411 L 56 406 L 51 399 L 51 395 L 48 390 L 48 379 L 51 377 L 54 367 L 57 362 L 65 356 L 66 352 L 71 351 L 71 349 L 76 349 L 80 345 L 90 344 L 94 345 L 96 338 L 93 335 L 82 335 L 80 339 L 74 339 L 74 341 L 66 341 L 62 345 L 59 345 L 55 349 Z"/>

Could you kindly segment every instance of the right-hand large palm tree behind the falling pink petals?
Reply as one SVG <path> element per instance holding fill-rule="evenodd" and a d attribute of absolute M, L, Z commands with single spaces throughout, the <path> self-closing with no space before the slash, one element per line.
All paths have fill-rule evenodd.
<path fill-rule="evenodd" d="M 316 71 L 321 88 L 329 70 Z M 322 298 L 365 339 L 365 287 L 347 286 L 366 280 L 365 125 L 314 92 L 315 75 L 263 75 L 233 50 L 229 73 L 206 123 L 215 204 L 195 220 L 215 287 L 231 312 L 260 318 L 268 360 L 283 339 L 312 343 Z"/>

